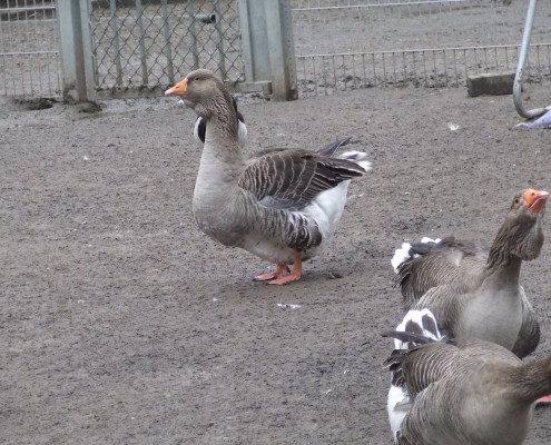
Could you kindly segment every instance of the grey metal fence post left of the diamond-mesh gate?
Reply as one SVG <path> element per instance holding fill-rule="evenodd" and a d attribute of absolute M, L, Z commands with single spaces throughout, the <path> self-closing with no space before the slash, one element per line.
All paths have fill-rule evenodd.
<path fill-rule="evenodd" d="M 58 0 L 63 100 L 87 101 L 94 91 L 89 0 Z"/>

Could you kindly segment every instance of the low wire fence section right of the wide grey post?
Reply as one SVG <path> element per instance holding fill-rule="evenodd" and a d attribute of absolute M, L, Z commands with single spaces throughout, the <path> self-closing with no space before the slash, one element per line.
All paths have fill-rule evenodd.
<path fill-rule="evenodd" d="M 299 95 L 463 86 L 514 71 L 528 1 L 291 0 Z M 551 3 L 540 1 L 527 81 L 551 77 Z"/>

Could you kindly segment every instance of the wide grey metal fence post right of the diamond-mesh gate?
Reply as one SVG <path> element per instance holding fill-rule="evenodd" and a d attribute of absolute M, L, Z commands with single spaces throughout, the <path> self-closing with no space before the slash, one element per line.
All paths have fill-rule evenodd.
<path fill-rule="evenodd" d="M 270 86 L 274 100 L 295 100 L 295 48 L 289 0 L 239 0 L 246 83 Z"/>

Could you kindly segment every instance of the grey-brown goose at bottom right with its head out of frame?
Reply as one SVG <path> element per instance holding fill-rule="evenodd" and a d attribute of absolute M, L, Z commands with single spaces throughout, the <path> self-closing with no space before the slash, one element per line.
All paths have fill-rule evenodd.
<path fill-rule="evenodd" d="M 396 442 L 522 444 L 534 402 L 551 392 L 551 357 L 523 364 L 491 342 L 445 340 L 435 329 L 435 320 L 431 322 L 430 312 L 417 315 L 422 325 L 410 320 L 385 334 L 406 345 L 396 345 L 385 362 L 393 373 L 393 385 L 411 397 L 403 413 L 396 416 L 390 411 Z M 439 338 L 443 342 L 435 343 Z"/>

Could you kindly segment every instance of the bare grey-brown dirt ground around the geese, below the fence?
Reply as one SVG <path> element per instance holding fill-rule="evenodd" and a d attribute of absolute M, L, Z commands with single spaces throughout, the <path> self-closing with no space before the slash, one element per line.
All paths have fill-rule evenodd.
<path fill-rule="evenodd" d="M 551 103 L 549 87 L 528 96 Z M 1 103 L 0 443 L 391 444 L 380 334 L 402 315 L 394 248 L 422 235 L 490 243 L 514 191 L 551 189 L 551 132 L 514 129 L 511 97 L 240 103 L 247 152 L 350 135 L 373 161 L 331 247 L 284 287 L 252 281 L 269 265 L 198 230 L 200 148 L 175 99 L 96 113 Z M 522 269 L 540 357 L 550 265 L 548 243 Z M 550 437 L 551 408 L 538 409 L 527 444 Z"/>

